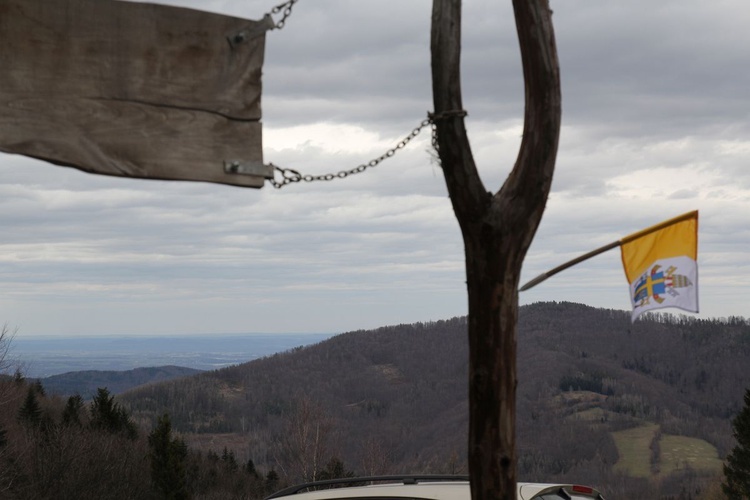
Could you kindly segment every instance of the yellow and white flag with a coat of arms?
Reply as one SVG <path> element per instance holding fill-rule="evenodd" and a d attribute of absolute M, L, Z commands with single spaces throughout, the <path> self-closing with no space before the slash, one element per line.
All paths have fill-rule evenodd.
<path fill-rule="evenodd" d="M 626 236 L 620 248 L 633 321 L 664 307 L 698 312 L 697 210 Z"/>

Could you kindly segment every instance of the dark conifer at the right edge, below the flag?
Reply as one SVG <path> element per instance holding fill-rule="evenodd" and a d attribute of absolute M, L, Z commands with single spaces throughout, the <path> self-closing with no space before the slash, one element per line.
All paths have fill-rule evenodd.
<path fill-rule="evenodd" d="M 730 500 L 750 498 L 750 389 L 744 399 L 745 406 L 732 420 L 737 446 L 724 463 L 721 488 Z"/>

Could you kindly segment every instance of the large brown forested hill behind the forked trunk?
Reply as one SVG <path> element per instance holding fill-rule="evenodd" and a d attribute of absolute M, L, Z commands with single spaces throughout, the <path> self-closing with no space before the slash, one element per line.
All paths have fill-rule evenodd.
<path fill-rule="evenodd" d="M 259 466 L 275 467 L 288 456 L 292 445 L 284 436 L 307 419 L 328 430 L 322 453 L 357 473 L 460 471 L 466 328 L 466 318 L 453 318 L 349 332 L 140 388 L 123 401 L 144 422 L 169 412 L 196 446 L 226 436 L 240 459 Z M 662 435 L 694 437 L 723 457 L 734 445 L 729 421 L 750 386 L 749 354 L 750 326 L 741 318 L 659 313 L 631 323 L 629 312 L 580 304 L 522 307 L 521 477 L 607 481 L 613 498 L 623 472 L 684 482 L 679 459 L 666 452 L 652 452 L 645 473 L 623 469 L 628 457 L 617 447 L 618 433 L 655 429 L 656 448 Z M 716 462 L 705 467 L 716 472 Z"/>

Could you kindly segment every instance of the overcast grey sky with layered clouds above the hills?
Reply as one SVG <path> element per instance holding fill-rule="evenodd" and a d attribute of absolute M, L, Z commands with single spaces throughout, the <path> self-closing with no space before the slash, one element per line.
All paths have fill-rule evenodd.
<path fill-rule="evenodd" d="M 162 3 L 260 19 L 276 2 Z M 464 4 L 467 126 L 497 191 L 523 124 L 513 12 L 510 0 Z M 551 6 L 563 126 L 522 282 L 698 209 L 698 316 L 749 316 L 750 3 Z M 335 173 L 416 127 L 432 109 L 430 15 L 428 0 L 300 0 L 266 39 L 265 161 Z M 22 336 L 337 333 L 467 310 L 427 131 L 363 174 L 281 190 L 109 178 L 0 153 L 0 234 L 0 324 Z M 627 310 L 619 251 L 520 300 Z"/>

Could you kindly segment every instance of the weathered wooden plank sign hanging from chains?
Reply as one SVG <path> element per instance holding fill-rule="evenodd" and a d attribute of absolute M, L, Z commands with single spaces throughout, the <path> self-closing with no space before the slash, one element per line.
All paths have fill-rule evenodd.
<path fill-rule="evenodd" d="M 262 187 L 249 21 L 117 0 L 0 0 L 0 151 L 86 172 Z"/>

